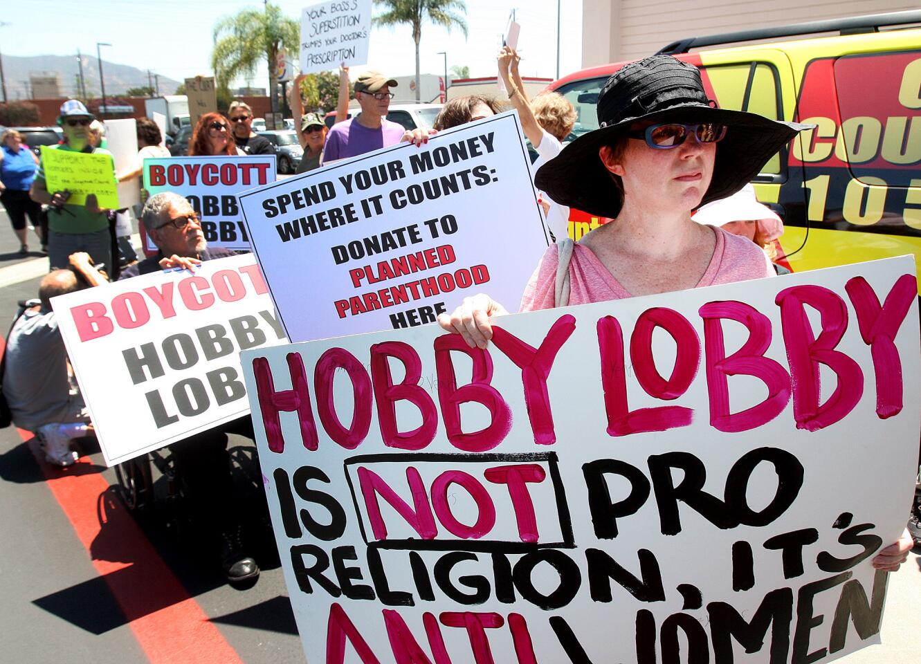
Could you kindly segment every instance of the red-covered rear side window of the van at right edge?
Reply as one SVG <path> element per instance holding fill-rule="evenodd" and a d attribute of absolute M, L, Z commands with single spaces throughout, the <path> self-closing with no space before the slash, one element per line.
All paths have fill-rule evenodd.
<path fill-rule="evenodd" d="M 860 53 L 834 61 L 840 129 L 835 154 L 877 187 L 919 186 L 921 52 Z"/>

